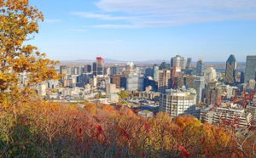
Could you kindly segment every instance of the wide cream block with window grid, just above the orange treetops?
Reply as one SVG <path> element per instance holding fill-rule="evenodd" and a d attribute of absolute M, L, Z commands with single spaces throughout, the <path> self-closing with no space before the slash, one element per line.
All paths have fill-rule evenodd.
<path fill-rule="evenodd" d="M 160 93 L 160 111 L 170 114 L 172 118 L 195 115 L 195 101 L 195 93 L 166 90 L 166 93 Z"/>

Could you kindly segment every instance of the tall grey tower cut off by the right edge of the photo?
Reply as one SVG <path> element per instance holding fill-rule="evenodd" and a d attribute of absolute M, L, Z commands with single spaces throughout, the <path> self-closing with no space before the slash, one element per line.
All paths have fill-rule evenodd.
<path fill-rule="evenodd" d="M 246 71 L 244 82 L 248 82 L 255 78 L 256 71 L 256 55 L 247 55 Z"/>

